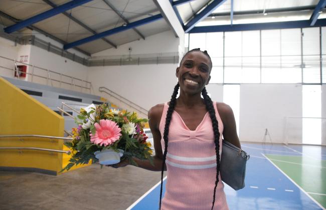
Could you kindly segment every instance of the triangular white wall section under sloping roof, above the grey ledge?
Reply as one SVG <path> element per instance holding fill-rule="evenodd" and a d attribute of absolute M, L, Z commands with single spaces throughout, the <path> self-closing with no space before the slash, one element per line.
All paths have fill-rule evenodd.
<path fill-rule="evenodd" d="M 130 43 L 122 44 L 118 48 L 109 48 L 97 53 L 94 56 L 110 56 L 110 55 L 125 55 L 129 54 L 128 48 L 131 47 L 132 54 L 147 54 L 160 52 L 178 52 L 179 45 L 184 44 L 184 38 L 177 38 L 171 30 L 161 32 L 155 35 L 145 37 L 145 40 L 135 40 Z M 183 47 L 184 48 L 184 47 Z"/>

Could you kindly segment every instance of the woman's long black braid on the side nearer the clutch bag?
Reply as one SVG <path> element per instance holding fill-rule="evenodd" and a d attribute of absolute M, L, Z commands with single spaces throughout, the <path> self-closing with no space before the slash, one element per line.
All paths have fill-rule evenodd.
<path fill-rule="evenodd" d="M 206 88 L 202 90 L 202 95 L 204 97 L 206 108 L 210 114 L 212 124 L 213 124 L 213 131 L 214 131 L 214 142 L 215 142 L 215 151 L 216 151 L 216 181 L 215 181 L 215 187 L 214 187 L 214 194 L 213 194 L 213 205 L 212 210 L 214 208 L 215 203 L 215 193 L 216 193 L 216 187 L 217 183 L 219 182 L 219 171 L 220 171 L 220 132 L 219 132 L 219 123 L 216 119 L 215 115 L 215 109 L 213 106 L 212 99 L 207 94 Z"/>

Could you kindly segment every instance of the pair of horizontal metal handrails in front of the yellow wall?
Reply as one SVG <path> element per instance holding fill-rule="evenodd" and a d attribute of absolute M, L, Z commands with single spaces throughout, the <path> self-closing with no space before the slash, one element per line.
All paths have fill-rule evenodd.
<path fill-rule="evenodd" d="M 60 136 L 50 136 L 50 135 L 0 135 L 0 138 L 7 138 L 7 137 L 40 137 L 40 138 L 52 138 L 52 139 L 64 139 L 64 140 L 72 140 L 73 138 L 70 137 L 60 137 Z M 22 139 L 20 139 L 22 140 Z M 60 152 L 60 153 L 70 153 L 67 150 L 57 150 L 57 149 L 48 149 L 48 148 L 39 148 L 39 147 L 0 147 L 0 149 L 32 149 L 32 150 L 42 150 L 42 151 L 53 151 L 53 152 Z"/>

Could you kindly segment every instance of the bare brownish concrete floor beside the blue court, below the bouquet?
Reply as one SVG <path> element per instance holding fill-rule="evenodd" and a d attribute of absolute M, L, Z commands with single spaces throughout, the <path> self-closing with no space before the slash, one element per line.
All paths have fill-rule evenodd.
<path fill-rule="evenodd" d="M 159 180 L 159 171 L 98 163 L 57 176 L 0 171 L 0 209 L 126 209 Z"/>

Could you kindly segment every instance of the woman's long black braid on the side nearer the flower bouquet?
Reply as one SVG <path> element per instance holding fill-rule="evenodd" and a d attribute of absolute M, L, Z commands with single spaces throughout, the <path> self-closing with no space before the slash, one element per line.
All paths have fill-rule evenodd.
<path fill-rule="evenodd" d="M 168 108 L 168 113 L 167 113 L 167 117 L 166 117 L 166 124 L 165 124 L 165 127 L 164 127 L 163 138 L 164 138 L 165 148 L 164 148 L 163 161 L 162 161 L 162 170 L 161 170 L 161 182 L 160 182 L 160 193 L 159 193 L 159 209 L 160 209 L 160 206 L 161 206 L 162 189 L 163 189 L 163 172 L 164 172 L 165 162 L 166 162 L 167 153 L 168 153 L 169 126 L 170 126 L 173 110 L 175 109 L 175 106 L 176 106 L 176 101 L 177 101 L 176 98 L 177 98 L 179 87 L 180 87 L 180 85 L 179 85 L 179 83 L 177 83 L 176 86 L 175 86 L 175 89 L 173 91 L 173 94 L 171 96 L 171 100 L 170 100 L 169 108 Z"/>

